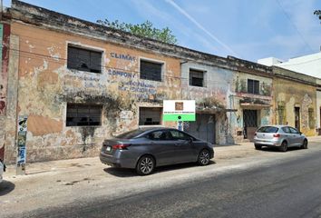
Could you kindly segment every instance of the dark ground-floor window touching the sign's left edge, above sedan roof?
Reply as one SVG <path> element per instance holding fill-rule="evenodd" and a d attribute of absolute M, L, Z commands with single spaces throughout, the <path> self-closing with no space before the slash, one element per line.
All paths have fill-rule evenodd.
<path fill-rule="evenodd" d="M 140 125 L 160 124 L 161 107 L 140 107 Z"/>

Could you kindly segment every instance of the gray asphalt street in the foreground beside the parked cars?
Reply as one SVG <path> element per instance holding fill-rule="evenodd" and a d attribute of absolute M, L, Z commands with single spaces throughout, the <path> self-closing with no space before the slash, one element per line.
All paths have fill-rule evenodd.
<path fill-rule="evenodd" d="M 269 162 L 142 193 L 79 199 L 23 217 L 321 217 L 321 150 L 269 153 Z M 274 155 L 275 154 L 275 155 Z M 278 157 L 276 161 L 274 156 Z M 114 184 L 113 184 L 114 185 Z M 105 186 L 113 189 L 113 186 Z M 82 192 L 82 190 L 78 190 Z M 44 199 L 45 200 L 45 199 Z M 16 215 L 15 215 L 16 217 Z"/>

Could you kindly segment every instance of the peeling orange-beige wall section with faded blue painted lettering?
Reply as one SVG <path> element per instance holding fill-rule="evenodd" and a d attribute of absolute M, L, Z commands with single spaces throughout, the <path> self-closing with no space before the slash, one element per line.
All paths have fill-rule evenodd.
<path fill-rule="evenodd" d="M 28 115 L 28 163 L 98 155 L 104 138 L 138 127 L 139 106 L 180 99 L 179 59 L 19 23 L 12 24 L 12 34 L 19 37 L 17 107 L 18 115 Z M 67 69 L 68 44 L 102 51 L 102 74 Z M 140 79 L 140 58 L 164 63 L 162 82 Z M 67 102 L 102 104 L 102 126 L 67 127 Z M 8 161 L 14 157 L 10 150 Z"/>

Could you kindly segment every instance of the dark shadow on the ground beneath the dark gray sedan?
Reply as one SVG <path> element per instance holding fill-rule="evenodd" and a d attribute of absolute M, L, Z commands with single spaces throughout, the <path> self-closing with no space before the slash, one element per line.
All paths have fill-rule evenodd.
<path fill-rule="evenodd" d="M 211 164 L 215 164 L 215 162 L 212 160 L 209 161 L 209 165 Z M 180 169 L 190 168 L 190 167 L 201 167 L 201 166 L 199 166 L 197 163 L 180 163 L 175 165 L 166 165 L 166 166 L 156 167 L 156 169 L 154 170 L 154 173 L 162 173 L 162 172 L 180 170 Z M 140 176 L 135 172 L 134 169 L 110 167 L 110 168 L 103 169 L 103 171 L 118 177 Z"/>

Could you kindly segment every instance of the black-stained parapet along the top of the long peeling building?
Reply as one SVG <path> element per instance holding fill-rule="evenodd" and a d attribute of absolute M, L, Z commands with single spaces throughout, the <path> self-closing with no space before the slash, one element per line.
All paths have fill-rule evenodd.
<path fill-rule="evenodd" d="M 171 45 L 154 39 L 132 35 L 131 33 L 116 30 L 104 25 L 98 25 L 70 15 L 63 15 L 36 5 L 12 0 L 12 7 L 8 8 L 7 18 L 39 28 L 51 29 L 57 32 L 82 35 L 104 42 L 131 46 L 140 50 L 149 50 L 152 53 L 166 54 L 181 60 L 219 66 L 248 74 L 259 74 L 271 77 L 272 68 L 262 64 L 249 62 L 239 58 L 221 57 L 215 54 L 199 52 L 180 45 Z M 90 36 L 88 36 L 90 34 Z M 250 68 L 248 68 L 250 65 Z"/>

